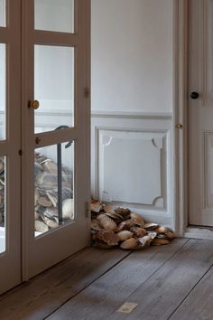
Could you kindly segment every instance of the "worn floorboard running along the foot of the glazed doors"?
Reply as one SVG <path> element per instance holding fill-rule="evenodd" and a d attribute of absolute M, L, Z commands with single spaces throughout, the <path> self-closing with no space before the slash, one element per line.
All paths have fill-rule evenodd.
<path fill-rule="evenodd" d="M 94 248 L 81 251 L 3 296 L 0 319 L 43 319 L 130 252 Z"/>

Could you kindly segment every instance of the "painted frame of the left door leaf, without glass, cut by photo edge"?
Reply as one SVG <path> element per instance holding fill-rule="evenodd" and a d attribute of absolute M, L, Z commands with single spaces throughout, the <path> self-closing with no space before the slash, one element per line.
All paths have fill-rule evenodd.
<path fill-rule="evenodd" d="M 6 47 L 5 140 L 0 155 L 5 163 L 5 252 L 0 254 L 0 293 L 21 282 L 21 1 L 6 4 L 6 26 L 0 42 Z"/>

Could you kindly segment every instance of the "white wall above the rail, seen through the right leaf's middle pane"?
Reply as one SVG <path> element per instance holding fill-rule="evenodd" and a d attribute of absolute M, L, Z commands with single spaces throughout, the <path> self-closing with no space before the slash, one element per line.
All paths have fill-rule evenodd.
<path fill-rule="evenodd" d="M 51 103 L 53 100 L 56 102 L 56 108 L 60 109 L 61 103 L 65 100 L 69 103 L 68 106 L 64 107 L 70 109 L 74 92 L 73 77 L 73 48 L 48 45 L 35 46 L 34 94 L 36 99 L 46 101 L 45 105 L 42 104 L 42 108 L 48 108 L 52 111 L 55 107 Z"/>

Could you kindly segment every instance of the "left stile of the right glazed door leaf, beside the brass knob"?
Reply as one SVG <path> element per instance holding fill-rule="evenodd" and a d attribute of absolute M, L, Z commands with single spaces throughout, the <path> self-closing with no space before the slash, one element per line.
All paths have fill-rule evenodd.
<path fill-rule="evenodd" d="M 31 85 L 33 51 L 28 42 L 28 30 L 30 21 L 33 18 L 29 5 L 32 1 L 22 0 L 22 280 L 29 279 L 29 235 L 32 230 L 29 210 L 32 210 L 33 190 L 29 185 L 33 184 L 33 153 L 29 152 L 28 144 L 33 139 L 33 118 L 29 118 L 28 100 L 33 97 Z M 29 52 L 30 51 L 30 52 Z M 28 54 L 27 54 L 28 52 Z"/>

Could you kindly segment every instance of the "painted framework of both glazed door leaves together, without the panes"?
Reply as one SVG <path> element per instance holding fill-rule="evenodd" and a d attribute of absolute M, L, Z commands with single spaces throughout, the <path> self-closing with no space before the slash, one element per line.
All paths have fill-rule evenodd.
<path fill-rule="evenodd" d="M 4 3 L 4 1 L 0 2 L 1 9 Z M 0 146 L 0 155 L 6 157 L 5 228 L 0 230 L 0 293 L 88 246 L 89 219 L 87 209 L 88 201 L 90 201 L 90 110 L 89 97 L 85 95 L 85 89 L 90 87 L 90 1 L 75 1 L 75 33 L 35 31 L 33 28 L 33 0 L 11 1 L 10 5 L 8 5 L 9 1 L 6 3 L 6 17 L 9 24 L 6 25 L 6 28 L 0 27 L 0 43 L 6 43 L 7 77 L 5 81 L 5 72 L 1 68 L 0 85 L 3 89 L 5 84 L 7 87 L 6 139 L 1 141 Z M 70 1 L 70 3 L 73 8 L 73 2 Z M 0 14 L 1 26 L 4 19 L 2 10 Z M 50 104 L 44 106 L 45 123 L 41 121 L 41 123 L 35 124 L 35 133 L 39 126 L 42 132 L 39 135 L 40 144 L 35 143 L 37 134 L 34 134 L 34 111 L 28 108 L 29 100 L 36 99 L 34 97 L 34 44 L 51 45 L 51 48 L 53 46 L 74 47 L 76 52 L 74 110 L 69 112 L 70 101 L 73 97 L 64 94 L 62 83 L 62 89 L 57 91 L 57 88 L 53 88 L 52 96 L 51 92 L 47 90 L 48 88 L 42 88 L 46 89 L 47 96 L 43 94 L 41 88 L 36 88 L 42 92 L 44 100 L 47 97 L 50 99 Z M 0 58 L 1 61 L 4 61 L 4 56 Z M 60 56 L 59 58 L 62 59 Z M 64 69 L 63 63 L 61 65 Z M 70 73 L 66 74 L 69 77 Z M 52 74 L 50 76 L 53 77 Z M 46 87 L 47 85 L 48 82 L 46 82 Z M 5 97 L 3 90 L 1 93 L 0 124 L 1 133 L 3 133 Z M 51 102 L 55 101 L 53 106 L 55 107 L 60 99 L 62 99 L 62 120 L 68 118 L 66 114 L 64 117 L 64 112 L 67 112 L 71 117 L 75 115 L 75 123 L 74 127 L 56 132 L 55 127 L 67 124 L 60 122 L 60 108 L 56 110 L 54 121 L 51 121 Z M 63 109 L 64 107 L 65 109 Z M 70 140 L 75 142 L 74 165 L 71 164 L 75 176 L 75 220 L 61 225 L 59 229 L 50 231 L 48 234 L 34 238 L 34 149 Z M 19 155 L 20 149 L 23 151 L 22 157 Z M 22 164 L 21 159 L 23 160 Z M 65 159 L 66 165 L 70 162 L 71 159 Z M 4 250 L 5 252 L 2 252 Z"/>

